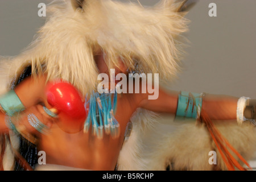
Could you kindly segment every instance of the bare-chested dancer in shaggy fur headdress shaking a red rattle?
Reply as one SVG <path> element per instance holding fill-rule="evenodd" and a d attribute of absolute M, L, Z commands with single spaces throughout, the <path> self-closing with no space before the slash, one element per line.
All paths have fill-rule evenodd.
<path fill-rule="evenodd" d="M 151 169 L 164 169 L 168 163 L 173 163 L 174 169 L 196 169 L 199 163 L 201 169 L 212 169 L 208 159 L 205 160 L 205 155 L 195 158 L 193 162 L 188 162 L 191 160 L 188 156 L 183 158 L 184 151 L 183 154 L 180 153 L 183 159 L 177 156 L 180 146 L 192 140 L 191 131 L 196 133 L 197 129 L 209 131 L 197 135 L 197 138 L 202 139 L 205 135 L 208 136 L 207 139 L 204 138 L 203 147 L 199 146 L 199 150 L 207 154 L 214 148 L 220 152 L 224 151 L 218 155 L 223 157 L 218 163 L 218 169 L 235 169 L 233 165 L 243 169 L 236 160 L 230 159 L 223 146 L 228 142 L 220 139 L 221 135 L 212 126 L 211 120 L 236 120 L 228 124 L 221 123 L 221 126 L 228 130 L 235 128 L 236 134 L 231 135 L 233 140 L 230 141 L 230 146 L 236 148 L 238 151 L 235 151 L 236 154 L 243 154 L 247 159 L 254 151 L 255 138 L 251 123 L 243 122 L 243 110 L 254 108 L 249 98 L 239 99 L 187 92 L 169 93 L 161 88 L 156 100 L 148 100 L 150 95 L 148 92 L 134 94 L 97 92 L 100 84 L 97 79 L 98 74 L 106 73 L 110 76 L 111 69 L 115 69 L 115 73 L 124 75 L 159 73 L 161 81 L 169 81 L 176 76 L 183 53 L 180 52 L 182 44 L 179 42 L 181 38 L 179 34 L 187 30 L 185 13 L 180 11 L 182 6 L 183 2 L 174 1 L 162 1 L 150 9 L 114 1 L 53 1 L 48 9 L 52 10 L 52 16 L 49 16 L 47 23 L 40 29 L 38 37 L 27 51 L 14 59 L 1 62 L 3 69 L 1 77 L 5 81 L 1 85 L 3 87 L 6 84 L 11 85 L 3 90 L 4 94 L 0 102 L 1 131 L 11 130 L 10 132 L 14 133 L 13 138 L 5 137 L 11 145 L 2 148 L 6 148 L 7 151 L 10 147 L 13 151 L 17 150 L 18 147 L 14 146 L 15 132 L 19 134 L 20 140 L 26 142 L 28 140 L 32 143 L 30 146 L 34 145 L 25 148 L 26 151 L 22 151 L 23 146 L 19 145 L 21 150 L 14 152 L 15 158 L 19 159 L 18 162 L 14 162 L 16 169 L 43 167 L 49 167 L 48 169 L 56 167 L 60 170 L 67 167 L 93 170 L 111 170 L 115 167 L 150 169 L 146 166 Z M 48 89 L 49 85 L 54 87 L 61 83 L 60 79 L 69 82 L 75 88 L 77 100 L 80 104 L 84 104 L 86 113 L 84 125 L 82 127 L 76 125 L 74 130 L 67 127 L 67 123 L 64 124 L 67 120 L 71 121 L 74 116 L 71 114 L 67 117 L 70 110 L 59 107 L 61 103 L 65 103 L 65 100 L 59 100 L 60 103 L 55 105 L 56 100 L 53 99 L 51 102 L 47 94 L 53 94 L 53 98 L 60 97 L 61 94 L 57 95 Z M 111 84 L 113 83 L 110 82 Z M 156 82 L 152 86 L 156 86 Z M 110 91 L 106 87 L 104 85 L 104 89 Z M 55 88 L 62 89 L 58 85 Z M 70 89 L 73 90 L 72 87 Z M 152 121 L 154 114 L 150 110 L 191 117 L 201 121 L 201 125 L 206 125 L 208 128 L 193 125 L 190 127 L 191 131 L 187 132 L 187 137 L 191 138 L 189 140 L 187 137 L 177 139 L 175 136 L 165 138 L 166 136 L 159 135 L 161 142 L 158 142 L 158 146 L 155 146 L 150 156 L 147 159 L 137 160 L 138 158 L 132 155 L 144 150 L 139 134 L 147 129 L 147 125 L 155 125 Z M 253 119 L 254 115 L 250 118 Z M 133 122 L 133 130 L 130 138 L 123 143 L 130 120 Z M 77 119 L 73 118 L 73 121 Z M 238 125 L 237 121 L 242 125 Z M 179 131 L 179 135 L 184 131 Z M 209 134 L 214 141 L 217 141 L 215 145 Z M 245 138 L 249 142 L 246 147 L 240 148 L 245 146 L 243 142 Z M 189 147 L 195 144 L 196 142 L 191 142 L 186 150 L 190 152 Z M 6 146 L 4 142 L 3 146 Z M 158 151 L 159 146 L 162 152 Z M 126 148 L 134 150 L 127 155 Z M 46 166 L 35 164 L 36 151 L 46 152 Z M 34 154 L 30 165 L 19 155 L 19 153 L 28 154 L 27 152 Z M 228 162 L 225 161 L 226 156 Z M 234 157 L 238 159 L 240 156 Z M 137 162 L 131 166 L 130 163 L 135 160 Z M 13 164 L 10 166 L 13 168 Z"/>

